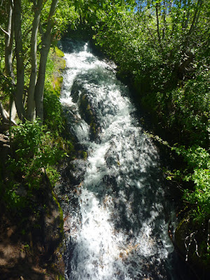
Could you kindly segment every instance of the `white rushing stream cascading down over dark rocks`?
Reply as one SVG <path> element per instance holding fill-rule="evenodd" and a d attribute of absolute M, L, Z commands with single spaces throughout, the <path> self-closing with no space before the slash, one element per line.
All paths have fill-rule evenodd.
<path fill-rule="evenodd" d="M 158 151 L 136 118 L 127 87 L 87 43 L 66 40 L 62 50 L 61 102 L 88 155 L 83 180 L 71 190 L 77 203 L 69 201 L 65 211 L 66 279 L 180 279 Z M 97 123 L 94 134 L 83 117 L 84 100 Z M 80 160 L 76 165 L 81 168 Z"/>

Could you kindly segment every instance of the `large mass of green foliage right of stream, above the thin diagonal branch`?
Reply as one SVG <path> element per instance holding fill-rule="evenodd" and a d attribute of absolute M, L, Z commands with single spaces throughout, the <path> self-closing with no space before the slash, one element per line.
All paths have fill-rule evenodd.
<path fill-rule="evenodd" d="M 153 119 L 181 144 L 209 145 L 209 3 L 138 1 L 98 11 L 94 39 Z M 157 13 L 156 13 L 157 12 Z M 187 143 L 186 143 L 187 141 Z"/>

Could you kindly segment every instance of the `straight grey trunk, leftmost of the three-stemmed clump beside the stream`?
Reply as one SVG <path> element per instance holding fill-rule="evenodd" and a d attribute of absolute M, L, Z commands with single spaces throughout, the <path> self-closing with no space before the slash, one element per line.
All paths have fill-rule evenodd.
<path fill-rule="evenodd" d="M 17 85 L 15 90 L 15 105 L 18 111 L 18 117 L 23 120 L 25 110 L 22 101 L 24 92 L 24 60 L 22 50 L 22 32 L 21 32 L 21 0 L 14 1 L 14 28 L 15 28 L 15 55 L 17 59 Z"/>

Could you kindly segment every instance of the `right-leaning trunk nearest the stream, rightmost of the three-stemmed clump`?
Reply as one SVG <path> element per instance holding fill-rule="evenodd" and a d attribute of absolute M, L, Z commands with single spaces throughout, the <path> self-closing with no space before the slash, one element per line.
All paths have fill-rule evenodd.
<path fill-rule="evenodd" d="M 38 69 L 38 79 L 35 88 L 35 102 L 36 102 L 36 117 L 40 118 L 43 123 L 43 92 L 45 85 L 45 70 L 48 59 L 48 52 L 50 50 L 50 43 L 52 40 L 52 27 L 54 25 L 52 16 L 55 14 L 58 0 L 52 0 L 50 14 L 48 16 L 48 25 L 45 33 L 42 36 L 42 48 L 40 64 Z"/>

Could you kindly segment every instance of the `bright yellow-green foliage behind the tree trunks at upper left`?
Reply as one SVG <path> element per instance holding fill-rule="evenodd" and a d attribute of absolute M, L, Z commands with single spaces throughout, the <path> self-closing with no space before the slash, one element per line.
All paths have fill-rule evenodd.
<path fill-rule="evenodd" d="M 14 3 L 17 4 L 17 2 Z M 0 13 L 3 17 L 0 19 L 0 73 L 2 72 L 3 75 L 13 78 L 14 85 L 18 83 L 18 90 L 13 92 L 15 93 L 18 117 L 22 120 L 22 116 L 25 116 L 28 120 L 32 120 L 31 112 L 35 105 L 36 116 L 39 116 L 41 122 L 43 122 L 43 80 L 48 47 L 45 49 L 45 55 L 43 55 L 43 48 L 51 43 L 55 45 L 61 34 L 66 31 L 67 25 L 78 19 L 78 14 L 73 7 L 73 1 L 22 0 L 19 2 L 20 5 L 16 6 L 13 5 L 13 1 L 1 1 Z M 18 13 L 18 7 L 20 13 Z M 8 24 L 12 15 L 9 11 L 13 12 L 14 28 L 12 29 L 9 28 L 10 25 Z M 20 26 L 18 22 L 20 22 Z M 36 24 L 39 26 L 38 29 Z M 14 33 L 18 36 L 14 36 Z M 14 38 L 14 40 L 11 39 L 8 43 L 6 38 Z M 48 43 L 46 43 L 47 41 Z M 15 52 L 15 48 L 20 48 L 20 50 Z M 59 51 L 57 51 L 58 54 L 60 55 Z M 48 78 L 48 70 L 46 76 Z M 37 92 L 40 96 L 36 94 L 36 102 L 33 104 L 35 83 L 36 89 L 39 87 Z M 59 87 L 61 83 L 62 80 L 57 78 L 55 86 Z M 8 80 L 6 84 L 6 86 L 3 85 L 3 93 L 6 94 L 8 99 L 12 92 L 8 88 L 10 87 Z M 25 113 L 25 107 L 27 107 L 27 113 Z M 8 106 L 6 106 L 6 109 L 8 109 Z M 38 111 L 41 111 L 41 113 L 38 113 Z"/>

